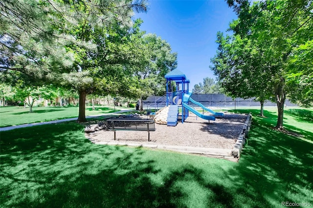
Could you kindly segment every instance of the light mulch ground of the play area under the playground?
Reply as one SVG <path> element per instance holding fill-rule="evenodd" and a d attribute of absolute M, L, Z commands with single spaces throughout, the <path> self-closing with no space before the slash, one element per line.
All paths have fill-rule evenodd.
<path fill-rule="evenodd" d="M 94 144 L 144 146 L 238 161 L 232 156 L 232 150 L 247 118 L 244 114 L 225 113 L 209 122 L 190 113 L 183 124 L 155 124 L 156 131 L 150 132 L 150 142 L 147 131 L 116 131 L 114 140 L 114 132 L 103 129 L 87 133 L 86 137 Z"/>

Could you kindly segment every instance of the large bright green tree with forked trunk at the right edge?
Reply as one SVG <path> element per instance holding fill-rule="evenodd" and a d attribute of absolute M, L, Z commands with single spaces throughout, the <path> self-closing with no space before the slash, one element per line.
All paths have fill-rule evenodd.
<path fill-rule="evenodd" d="M 297 82 L 299 77 L 294 72 L 293 75 L 291 73 L 291 60 L 295 58 L 299 48 L 303 45 L 310 47 L 309 43 L 313 38 L 312 0 L 267 0 L 254 2 L 253 5 L 250 5 L 248 0 L 227 0 L 227 3 L 234 8 L 238 15 L 238 20 L 230 24 L 230 30 L 234 32 L 234 39 L 231 44 L 239 47 L 240 42 L 238 40 L 247 40 L 252 49 L 249 53 L 253 55 L 256 51 L 255 54 L 258 54 L 258 57 L 252 57 L 254 62 L 259 59 L 261 66 L 257 66 L 258 62 L 252 64 L 257 66 L 253 67 L 252 74 L 256 81 L 255 85 L 258 86 L 258 83 L 264 82 L 264 78 L 268 81 L 269 85 L 258 87 L 262 90 L 269 89 L 278 109 L 276 128 L 283 129 L 286 97 L 291 96 L 296 99 L 302 97 L 301 94 L 311 91 L 309 85 L 306 87 L 303 85 L 302 90 L 294 90 L 295 86 L 301 87 L 301 82 Z M 232 51 L 231 48 L 228 50 Z M 306 51 L 310 51 L 310 49 Z M 300 52 L 300 54 L 302 53 L 303 51 Z M 232 56 L 230 56 L 229 62 L 226 62 L 226 68 L 232 67 L 232 69 L 241 72 L 244 66 L 250 65 L 244 53 L 234 51 L 230 54 Z M 312 60 L 312 58 L 310 59 Z M 216 61 L 219 62 L 218 59 Z M 308 76 L 307 78 L 310 79 L 310 70 L 304 68 L 301 67 L 302 75 Z M 219 73 L 223 74 L 224 72 Z M 237 74 L 240 75 L 241 73 Z M 257 77 L 257 74 L 264 76 Z M 305 78 L 306 81 L 308 81 L 307 78 Z M 229 79 L 234 82 L 234 80 L 238 80 L 238 77 L 230 76 Z M 250 80 L 247 83 L 253 84 Z M 267 93 L 265 95 L 268 96 Z"/>

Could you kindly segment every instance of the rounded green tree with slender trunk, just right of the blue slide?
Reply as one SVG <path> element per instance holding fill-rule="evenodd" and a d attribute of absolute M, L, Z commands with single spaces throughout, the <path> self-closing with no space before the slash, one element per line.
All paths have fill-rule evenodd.
<path fill-rule="evenodd" d="M 264 50 L 257 44 L 239 35 L 229 37 L 218 33 L 217 54 L 211 59 L 210 66 L 218 76 L 226 94 L 233 98 L 252 98 L 261 104 L 260 115 L 264 116 L 264 102 L 270 98 L 271 75 L 266 74 Z"/>

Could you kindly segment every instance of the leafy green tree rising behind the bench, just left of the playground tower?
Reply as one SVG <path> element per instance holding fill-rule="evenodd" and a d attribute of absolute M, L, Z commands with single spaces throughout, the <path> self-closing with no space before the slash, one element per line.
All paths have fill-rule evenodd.
<path fill-rule="evenodd" d="M 156 34 L 141 35 L 135 41 L 139 62 L 134 65 L 134 76 L 138 80 L 135 96 L 139 99 L 140 110 L 143 110 L 143 99 L 165 93 L 164 76 L 177 67 L 177 53 L 172 52 L 170 44 Z"/>

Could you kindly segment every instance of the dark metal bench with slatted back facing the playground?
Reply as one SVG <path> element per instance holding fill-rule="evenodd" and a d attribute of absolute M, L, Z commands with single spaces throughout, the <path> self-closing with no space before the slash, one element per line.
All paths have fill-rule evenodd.
<path fill-rule="evenodd" d="M 114 131 L 114 140 L 116 131 L 148 131 L 148 142 L 150 142 L 150 131 L 156 130 L 154 120 L 127 120 L 127 119 L 109 119 L 107 121 L 109 130 Z"/>

